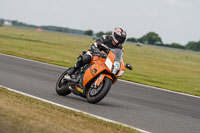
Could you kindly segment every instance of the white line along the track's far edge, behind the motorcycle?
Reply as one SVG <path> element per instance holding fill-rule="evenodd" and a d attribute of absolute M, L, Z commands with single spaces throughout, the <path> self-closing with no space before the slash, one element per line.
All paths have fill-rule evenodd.
<path fill-rule="evenodd" d="M 60 67 L 60 68 L 67 69 L 67 67 L 62 67 L 62 66 L 58 66 L 58 65 L 54 65 L 54 64 L 48 64 L 48 63 L 44 63 L 44 62 L 39 62 L 39 61 L 35 61 L 35 60 L 31 60 L 31 59 L 26 59 L 26 58 L 22 58 L 22 57 L 17 57 L 17 56 L 13 56 L 13 55 L 7 55 L 7 54 L 2 54 L 2 53 L 0 53 L 0 55 L 4 55 L 4 56 L 8 56 L 8 57 L 12 57 L 12 58 L 17 58 L 17 59 L 21 59 L 21 60 L 27 60 L 27 61 L 31 61 L 31 62 L 36 62 L 36 63 L 41 63 L 41 64 L 45 64 L 45 65 L 49 65 L 49 66 L 54 66 L 54 67 Z M 151 89 L 156 89 L 156 90 L 170 92 L 170 93 L 174 93 L 174 94 L 189 96 L 189 97 L 193 97 L 193 98 L 200 98 L 199 96 L 194 96 L 194 95 L 191 95 L 191 94 L 186 94 L 186 93 L 182 93 L 182 92 L 176 92 L 176 91 L 166 90 L 166 89 L 163 89 L 163 88 L 153 87 L 153 86 L 149 86 L 149 85 L 143 85 L 143 84 L 139 84 L 139 83 L 135 83 L 135 82 L 130 82 L 130 81 L 122 80 L 122 79 L 119 79 L 119 80 L 122 81 L 122 82 L 129 83 L 129 84 L 134 84 L 134 85 L 143 86 L 143 87 L 149 87 Z"/>

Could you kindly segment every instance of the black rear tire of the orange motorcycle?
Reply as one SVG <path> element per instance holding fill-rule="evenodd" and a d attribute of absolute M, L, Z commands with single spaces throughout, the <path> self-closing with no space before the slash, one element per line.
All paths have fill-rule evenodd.
<path fill-rule="evenodd" d="M 58 95 L 66 96 L 66 95 L 69 95 L 71 93 L 70 89 L 68 88 L 67 81 L 65 81 L 65 82 L 62 81 L 63 77 L 67 74 L 67 71 L 69 69 L 67 69 L 66 71 L 64 71 L 62 73 L 62 75 L 59 77 L 59 79 L 58 79 L 58 81 L 56 83 L 56 88 L 55 89 L 56 89 L 56 93 Z"/>

